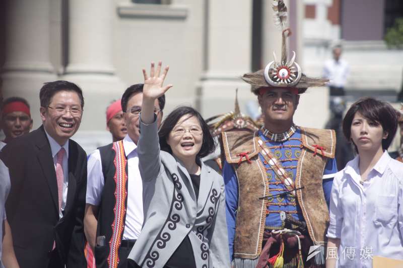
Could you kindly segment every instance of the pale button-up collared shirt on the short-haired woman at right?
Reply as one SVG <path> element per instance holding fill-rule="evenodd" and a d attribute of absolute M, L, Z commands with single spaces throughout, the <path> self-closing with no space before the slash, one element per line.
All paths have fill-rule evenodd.
<path fill-rule="evenodd" d="M 327 237 L 340 238 L 338 267 L 403 259 L 403 163 L 385 151 L 360 184 L 359 156 L 334 176 Z"/>

